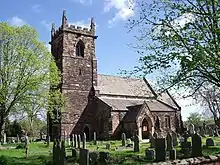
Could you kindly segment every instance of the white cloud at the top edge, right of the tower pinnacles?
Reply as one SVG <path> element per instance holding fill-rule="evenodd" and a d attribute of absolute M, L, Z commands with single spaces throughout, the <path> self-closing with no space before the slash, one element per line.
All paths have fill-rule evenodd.
<path fill-rule="evenodd" d="M 120 20 L 127 20 L 134 15 L 133 0 L 105 0 L 104 12 L 109 12 L 111 9 L 116 10 L 115 16 L 108 21 L 110 25 Z"/>

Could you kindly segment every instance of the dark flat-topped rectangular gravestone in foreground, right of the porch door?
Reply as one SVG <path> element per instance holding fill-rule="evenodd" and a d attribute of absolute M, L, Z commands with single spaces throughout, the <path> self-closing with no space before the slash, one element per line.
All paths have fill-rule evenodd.
<path fill-rule="evenodd" d="M 155 139 L 155 154 L 156 154 L 157 162 L 166 160 L 166 139 L 165 138 Z"/>

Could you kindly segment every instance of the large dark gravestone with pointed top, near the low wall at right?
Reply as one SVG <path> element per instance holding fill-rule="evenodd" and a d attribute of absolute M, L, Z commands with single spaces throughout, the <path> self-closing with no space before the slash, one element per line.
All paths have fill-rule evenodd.
<path fill-rule="evenodd" d="M 202 156 L 202 138 L 197 133 L 192 136 L 192 156 Z"/>

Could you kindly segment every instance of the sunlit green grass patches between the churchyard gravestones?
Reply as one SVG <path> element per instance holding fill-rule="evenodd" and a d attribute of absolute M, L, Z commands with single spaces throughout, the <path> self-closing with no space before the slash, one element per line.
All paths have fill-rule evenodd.
<path fill-rule="evenodd" d="M 214 147 L 203 149 L 203 155 L 215 155 L 215 153 L 220 152 L 220 138 L 213 138 L 215 143 L 217 144 Z M 190 140 L 190 139 L 189 139 Z M 205 138 L 203 138 L 203 145 L 205 144 Z M 111 148 L 108 152 L 110 152 L 111 160 L 110 164 L 146 164 L 149 163 L 149 160 L 146 160 L 145 149 L 149 147 L 149 143 L 142 143 L 140 146 L 140 152 L 135 153 L 132 149 L 128 150 L 120 150 L 121 141 L 99 141 L 98 145 L 93 145 L 92 142 L 87 142 L 87 148 L 91 152 L 100 152 L 106 151 L 106 144 L 110 143 Z M 67 144 L 67 143 L 66 143 Z M 0 150 L 0 165 L 45 165 L 50 164 L 52 158 L 52 143 L 50 147 L 47 147 L 46 144 L 42 142 L 31 143 L 29 145 L 29 159 L 25 158 L 25 149 L 7 149 Z M 16 146 L 13 145 L 4 145 L 5 147 Z M 176 147 L 177 156 L 182 157 L 180 154 L 180 148 Z M 71 147 L 66 147 L 67 156 L 71 156 Z M 68 160 L 67 165 L 76 164 L 77 160 Z M 5 162 L 5 163 L 4 163 Z"/>

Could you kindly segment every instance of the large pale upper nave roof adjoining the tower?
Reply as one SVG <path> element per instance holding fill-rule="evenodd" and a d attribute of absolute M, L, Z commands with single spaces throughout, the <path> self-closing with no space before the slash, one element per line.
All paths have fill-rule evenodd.
<path fill-rule="evenodd" d="M 99 90 L 100 95 L 154 97 L 149 84 L 143 79 L 98 74 L 95 88 Z"/>

